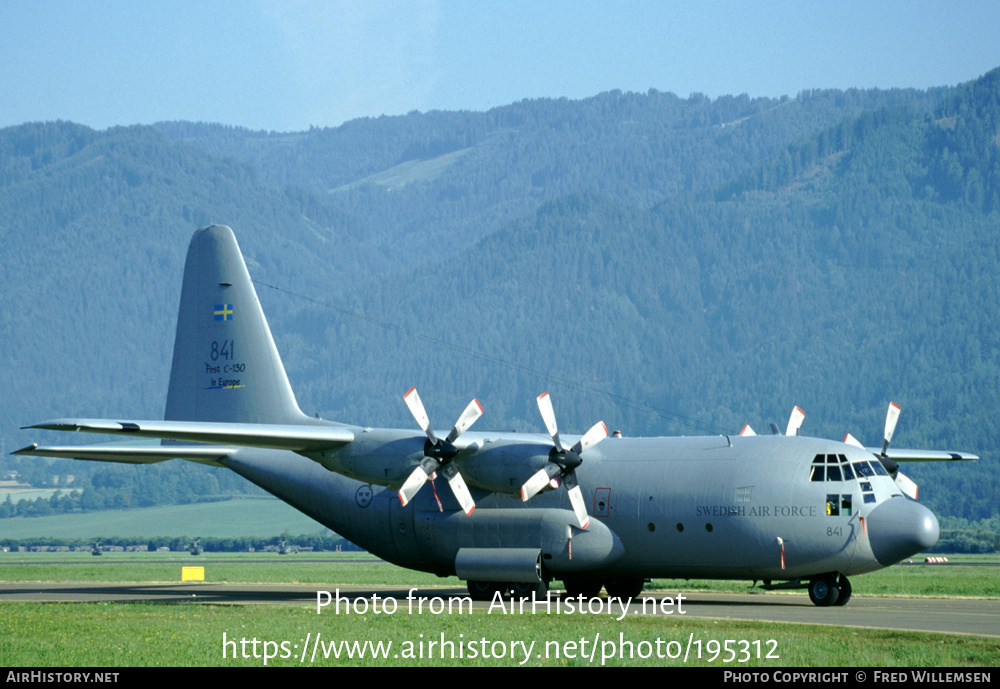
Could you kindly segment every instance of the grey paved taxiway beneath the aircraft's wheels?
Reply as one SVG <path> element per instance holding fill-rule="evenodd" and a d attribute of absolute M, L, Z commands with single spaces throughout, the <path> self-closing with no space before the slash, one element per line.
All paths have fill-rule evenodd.
<path fill-rule="evenodd" d="M 318 591 L 339 591 L 343 597 L 395 598 L 405 607 L 408 589 L 379 586 L 300 586 L 288 584 L 117 584 L 117 583 L 14 583 L 0 584 L 0 603 L 36 602 L 152 602 L 212 604 L 283 604 L 314 607 Z M 465 589 L 422 587 L 415 596 L 426 598 L 465 597 Z M 553 594 L 554 595 L 554 594 Z M 672 610 L 672 618 L 731 619 L 778 623 L 834 625 L 869 629 L 894 629 L 934 634 L 956 634 L 1000 638 L 1000 600 L 960 598 L 882 598 L 855 595 L 844 607 L 817 608 L 804 592 L 681 593 L 655 591 L 644 598 L 645 614 L 652 608 Z M 662 606 L 659 601 L 666 601 Z M 475 603 L 486 609 L 489 603 Z M 544 614 L 544 613 L 543 613 Z M 629 614 L 640 615 L 643 607 L 633 601 Z M 661 614 L 657 613 L 657 614 Z"/>

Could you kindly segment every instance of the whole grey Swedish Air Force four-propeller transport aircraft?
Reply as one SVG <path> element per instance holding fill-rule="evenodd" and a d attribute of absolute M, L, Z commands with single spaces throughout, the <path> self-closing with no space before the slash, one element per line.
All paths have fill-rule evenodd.
<path fill-rule="evenodd" d="M 236 238 L 215 225 L 188 251 L 165 420 L 26 427 L 159 444 L 15 454 L 226 467 L 385 560 L 457 575 L 479 599 L 543 593 L 554 579 L 573 596 L 603 586 L 624 598 L 666 577 L 787 582 L 773 587 L 808 586 L 820 606 L 847 602 L 848 576 L 937 542 L 897 461 L 976 459 L 888 449 L 895 405 L 883 446 L 865 449 L 799 437 L 797 409 L 785 435 L 605 439 L 598 423 L 563 438 L 548 393 L 547 435 L 466 432 L 482 414 L 473 400 L 441 438 L 416 390 L 404 399 L 423 433 L 303 414 Z"/>

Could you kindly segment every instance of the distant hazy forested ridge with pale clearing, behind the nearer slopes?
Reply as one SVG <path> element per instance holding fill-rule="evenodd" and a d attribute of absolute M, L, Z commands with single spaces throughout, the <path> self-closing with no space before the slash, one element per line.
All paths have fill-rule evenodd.
<path fill-rule="evenodd" d="M 795 99 L 710 100 L 603 93 L 531 100 L 485 113 L 356 120 L 296 134 L 164 123 L 206 152 L 262 178 L 327 194 L 388 238 L 401 261 L 440 259 L 567 194 L 596 192 L 648 208 L 711 189 L 844 118 L 892 105 L 929 110 L 929 92 L 811 91 Z"/>

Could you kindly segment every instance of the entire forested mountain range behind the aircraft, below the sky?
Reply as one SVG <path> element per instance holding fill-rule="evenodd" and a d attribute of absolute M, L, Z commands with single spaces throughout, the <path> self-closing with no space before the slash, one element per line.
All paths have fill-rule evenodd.
<path fill-rule="evenodd" d="M 977 452 L 1000 511 L 1000 71 L 928 92 L 601 94 L 298 134 L 0 130 L 0 434 L 158 417 L 191 232 L 231 225 L 307 413 L 409 427 L 783 425 Z M 65 440 L 65 439 L 62 439 Z M 96 441 L 96 438 L 95 438 Z M 132 468 L 124 467 L 123 471 Z M 141 470 L 141 468 L 139 468 Z"/>

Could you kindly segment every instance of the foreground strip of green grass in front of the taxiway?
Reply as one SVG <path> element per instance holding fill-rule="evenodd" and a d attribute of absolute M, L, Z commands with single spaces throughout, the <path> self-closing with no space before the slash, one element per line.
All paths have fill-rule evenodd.
<path fill-rule="evenodd" d="M 0 616 L 7 630 L 0 636 L 0 658 L 11 666 L 260 667 L 265 652 L 272 656 L 269 665 L 285 666 L 516 666 L 524 658 L 516 642 L 532 641 L 535 645 L 526 663 L 531 666 L 988 667 L 1000 663 L 995 639 L 942 639 L 908 632 L 652 617 L 630 618 L 621 623 L 580 622 L 557 615 L 523 618 L 484 611 L 433 619 L 405 614 L 347 617 L 317 616 L 311 606 L 111 603 L 7 604 L 0 606 Z M 308 642 L 317 634 L 323 642 L 356 644 L 354 657 L 347 657 L 351 645 L 334 645 L 327 647 L 327 657 L 322 651 L 317 658 L 307 652 L 307 662 L 302 662 L 303 647 L 311 649 Z M 442 638 L 462 644 L 463 657 L 428 657 L 434 653 L 430 643 Z M 235 641 L 226 646 L 224 639 L 246 639 L 248 643 Z M 251 643 L 253 639 L 258 641 L 256 647 Z M 587 642 L 595 639 L 597 655 L 590 660 L 592 647 Z M 687 662 L 682 657 L 639 657 L 654 652 L 657 641 L 664 655 L 678 655 L 691 639 L 700 642 L 700 658 L 690 653 Z M 712 642 L 721 645 L 726 639 L 746 642 L 744 648 L 733 646 L 735 653 L 745 649 L 749 654 L 745 662 L 737 662 L 738 655 L 724 662 L 725 651 L 714 648 Z M 621 644 L 622 640 L 631 644 L 632 657 L 606 658 L 602 662 L 602 654 L 612 650 L 604 644 Z M 265 646 L 265 642 L 271 645 Z M 391 642 L 388 657 L 373 658 L 372 646 L 365 649 L 366 642 Z M 756 647 L 754 642 L 758 642 Z M 334 649 L 341 657 L 333 657 Z M 477 657 L 472 657 L 472 649 L 477 649 Z M 406 657 L 408 650 L 412 658 Z M 360 657 L 362 651 L 366 657 Z M 482 651 L 503 657 L 482 657 Z M 455 654 L 458 652 L 456 647 Z M 538 653 L 545 657 L 536 657 Z"/>

